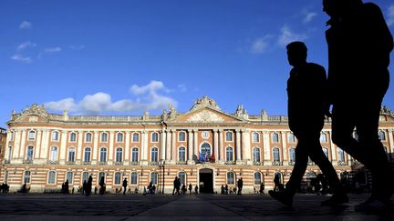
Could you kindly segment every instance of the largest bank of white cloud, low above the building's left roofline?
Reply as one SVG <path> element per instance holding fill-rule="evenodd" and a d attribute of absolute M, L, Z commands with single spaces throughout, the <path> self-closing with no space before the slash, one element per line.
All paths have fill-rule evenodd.
<path fill-rule="evenodd" d="M 169 104 L 178 105 L 170 96 L 161 95 L 159 92 L 167 92 L 168 89 L 161 81 L 151 81 L 148 85 L 131 85 L 132 99 L 112 101 L 111 95 L 98 92 L 94 95 L 85 95 L 77 102 L 73 98 L 65 98 L 59 101 L 47 102 L 46 108 L 51 110 L 69 110 L 81 115 L 99 115 L 103 112 L 144 112 L 149 110 L 161 110 Z"/>

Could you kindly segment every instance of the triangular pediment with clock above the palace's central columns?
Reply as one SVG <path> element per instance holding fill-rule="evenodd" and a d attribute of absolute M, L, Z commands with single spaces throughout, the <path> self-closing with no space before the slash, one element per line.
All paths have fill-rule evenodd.
<path fill-rule="evenodd" d="M 209 107 L 204 107 L 199 110 L 191 111 L 185 113 L 181 116 L 178 116 L 174 119 L 177 122 L 185 122 L 185 123 L 226 123 L 226 122 L 242 122 L 243 120 L 239 119 L 236 116 L 230 116 L 221 111 L 214 110 Z"/>

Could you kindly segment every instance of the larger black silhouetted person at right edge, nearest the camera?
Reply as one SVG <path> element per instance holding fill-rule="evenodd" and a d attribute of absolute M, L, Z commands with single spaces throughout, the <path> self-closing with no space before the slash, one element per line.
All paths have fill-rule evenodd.
<path fill-rule="evenodd" d="M 393 171 L 378 139 L 379 111 L 389 88 L 393 38 L 378 5 L 361 0 L 324 0 L 327 25 L 328 93 L 332 140 L 372 174 L 372 195 L 360 211 L 389 208 Z M 357 129 L 358 140 L 352 134 Z"/>

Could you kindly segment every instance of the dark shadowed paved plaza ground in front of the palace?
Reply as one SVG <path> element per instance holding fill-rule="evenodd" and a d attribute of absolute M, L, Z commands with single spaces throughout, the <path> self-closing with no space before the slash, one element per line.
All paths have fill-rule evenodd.
<path fill-rule="evenodd" d="M 354 212 L 368 195 L 344 206 L 320 206 L 328 196 L 296 195 L 293 207 L 270 196 L 244 195 L 0 195 L 0 220 L 394 220 Z"/>

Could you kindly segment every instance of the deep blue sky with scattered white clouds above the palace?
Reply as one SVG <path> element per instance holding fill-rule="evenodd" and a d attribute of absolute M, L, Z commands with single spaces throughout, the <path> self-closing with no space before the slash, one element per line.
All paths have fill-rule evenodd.
<path fill-rule="evenodd" d="M 394 33 L 394 2 L 371 2 Z M 327 68 L 327 20 L 320 0 L 2 0 L 0 127 L 32 104 L 154 116 L 203 95 L 226 113 L 285 116 L 285 45 L 304 41 L 308 61 Z"/>

